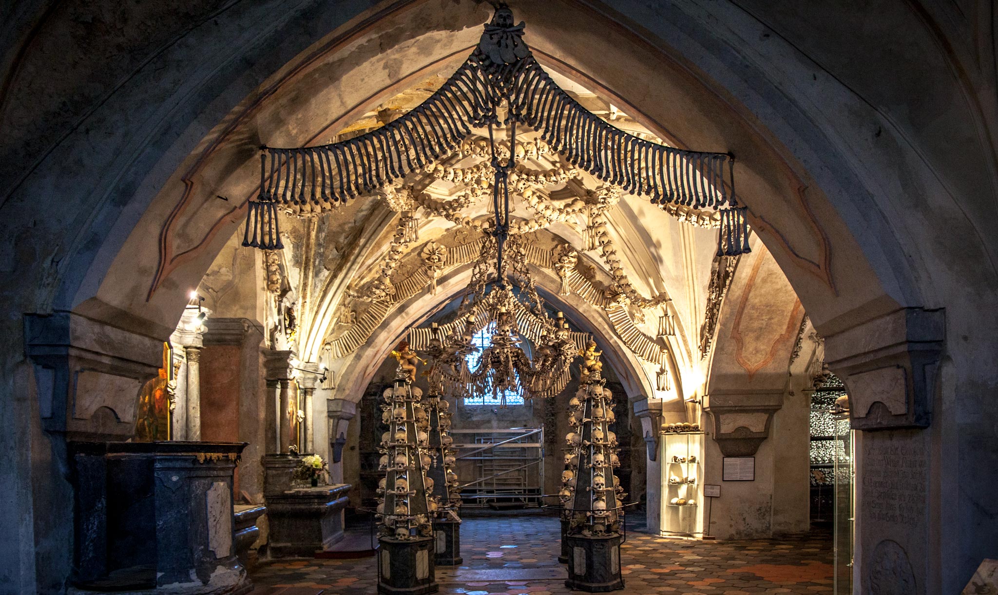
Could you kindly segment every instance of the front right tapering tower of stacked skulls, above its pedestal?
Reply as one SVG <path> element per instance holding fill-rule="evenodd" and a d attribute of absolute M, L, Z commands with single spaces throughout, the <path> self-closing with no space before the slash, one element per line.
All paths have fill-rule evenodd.
<path fill-rule="evenodd" d="M 609 428 L 614 421 L 614 397 L 603 384 L 597 373 L 579 390 L 576 399 L 580 405 L 571 413 L 578 426 L 566 438 L 570 447 L 579 447 L 570 506 L 573 508 L 570 531 L 574 534 L 617 533 L 624 513 L 621 502 L 627 494 L 613 473 L 613 468 L 620 466 L 617 436 Z"/>

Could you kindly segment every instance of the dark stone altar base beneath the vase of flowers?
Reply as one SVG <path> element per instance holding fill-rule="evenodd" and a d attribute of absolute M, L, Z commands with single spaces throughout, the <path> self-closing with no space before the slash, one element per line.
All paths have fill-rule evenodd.
<path fill-rule="evenodd" d="M 285 489 L 266 495 L 270 557 L 310 558 L 343 538 L 349 483 Z"/>

